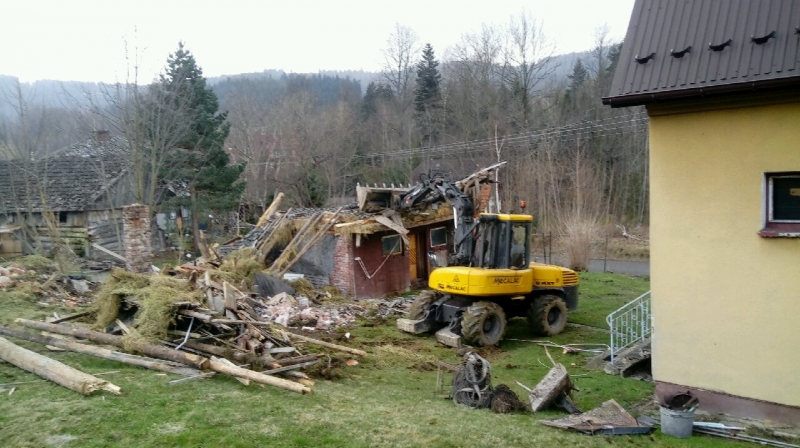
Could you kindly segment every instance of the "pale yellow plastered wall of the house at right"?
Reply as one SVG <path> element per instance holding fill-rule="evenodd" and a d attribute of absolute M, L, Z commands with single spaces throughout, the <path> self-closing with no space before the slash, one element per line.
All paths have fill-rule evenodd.
<path fill-rule="evenodd" d="M 653 376 L 800 406 L 800 239 L 762 238 L 800 171 L 800 103 L 650 121 Z"/>

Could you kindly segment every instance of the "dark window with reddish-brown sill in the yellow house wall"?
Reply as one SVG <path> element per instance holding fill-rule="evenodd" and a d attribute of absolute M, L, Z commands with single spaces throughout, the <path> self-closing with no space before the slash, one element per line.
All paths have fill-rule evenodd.
<path fill-rule="evenodd" d="M 800 237 L 800 172 L 767 173 L 764 176 L 766 237 Z"/>

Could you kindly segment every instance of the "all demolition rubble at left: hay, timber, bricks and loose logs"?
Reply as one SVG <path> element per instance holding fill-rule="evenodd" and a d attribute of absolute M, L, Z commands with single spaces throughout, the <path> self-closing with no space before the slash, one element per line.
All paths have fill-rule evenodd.
<path fill-rule="evenodd" d="M 91 328 L 70 322 L 86 318 L 86 312 L 51 322 L 17 319 L 19 325 L 44 333 L 0 327 L 0 334 L 185 377 L 171 383 L 223 373 L 243 383 L 254 381 L 310 393 L 313 376 L 336 378 L 339 375 L 333 369 L 356 365 L 351 358 L 366 353 L 329 342 L 331 337 L 322 336 L 327 341 L 310 337 L 308 332 L 336 331 L 359 316 L 402 312 L 402 300 L 352 303 L 330 287 L 317 290 L 302 279 L 284 282 L 242 254 L 229 258 L 165 266 L 149 274 L 114 269 L 100 285 L 56 273 L 48 276 L 19 267 L 4 268 L 3 273 L 9 273 L 6 277 L 14 279 L 13 286 L 6 282 L 10 288 L 19 287 L 22 279 L 35 283 L 32 279 L 36 276 L 46 277 L 44 283 L 35 283 L 37 298 L 66 289 L 87 299 L 93 296 L 94 322 Z M 119 351 L 87 341 L 112 345 Z M 46 373 L 37 373 L 81 393 L 119 392 L 113 384 L 2 338 L 0 359 L 31 371 L 47 364 Z"/>

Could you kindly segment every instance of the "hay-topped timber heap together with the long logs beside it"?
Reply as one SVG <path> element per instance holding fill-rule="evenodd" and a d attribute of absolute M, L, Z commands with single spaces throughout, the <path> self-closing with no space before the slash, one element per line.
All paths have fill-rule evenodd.
<path fill-rule="evenodd" d="M 304 323 L 315 318 L 324 324 L 320 328 L 333 328 L 352 322 L 358 312 L 355 307 L 362 307 L 367 314 L 370 310 L 364 304 L 332 305 L 353 306 L 349 313 L 321 311 L 325 304 L 320 297 L 330 293 L 306 291 L 305 295 L 313 296 L 314 301 L 284 293 L 275 301 L 244 292 L 243 286 L 240 289 L 226 278 L 231 279 L 229 272 L 194 266 L 168 268 L 150 275 L 116 269 L 96 292 L 94 330 L 65 323 L 76 320 L 69 316 L 52 323 L 16 320 L 41 334 L 8 327 L 0 327 L 0 334 L 185 377 L 172 383 L 226 374 L 243 384 L 256 382 L 301 394 L 312 392 L 313 375 L 336 378 L 333 367 L 347 365 L 346 361 L 354 356 L 366 356 L 366 352 L 334 343 L 330 338 L 325 341 L 299 334 L 288 328 L 289 319 L 284 318 L 287 325 L 268 319 L 275 315 L 276 307 L 283 311 L 296 308 Z M 395 309 L 395 305 L 389 305 L 383 309 Z M 332 319 L 332 315 L 339 316 L 339 320 Z M 342 319 L 342 315 L 349 317 Z M 306 330 L 316 328 L 317 325 Z M 0 359 L 81 393 L 118 391 L 114 385 L 68 366 L 57 366 L 60 363 L 18 350 L 11 343 L 3 344 Z"/>

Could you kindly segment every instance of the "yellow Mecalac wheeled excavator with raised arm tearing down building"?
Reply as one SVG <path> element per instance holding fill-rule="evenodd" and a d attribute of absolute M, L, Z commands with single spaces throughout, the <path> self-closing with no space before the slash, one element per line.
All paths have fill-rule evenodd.
<path fill-rule="evenodd" d="M 447 266 L 437 266 L 397 327 L 419 334 L 439 329 L 436 339 L 448 346 L 495 345 L 507 320 L 527 317 L 533 333 L 551 336 L 567 324 L 578 307 L 578 275 L 567 268 L 530 260 L 533 217 L 481 213 L 472 200 L 441 173 L 429 174 L 400 197 L 397 208 L 448 202 L 455 220 L 455 251 Z"/>

